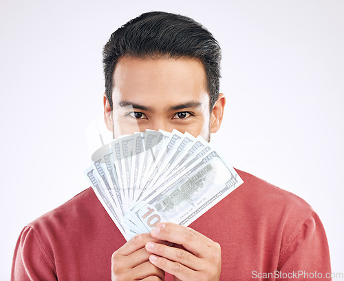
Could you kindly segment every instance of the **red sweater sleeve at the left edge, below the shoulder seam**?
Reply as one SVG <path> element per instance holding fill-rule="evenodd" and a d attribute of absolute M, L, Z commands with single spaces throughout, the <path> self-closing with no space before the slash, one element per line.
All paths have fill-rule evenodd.
<path fill-rule="evenodd" d="M 11 280 L 57 280 L 54 262 L 31 227 L 25 227 L 17 241 Z"/>

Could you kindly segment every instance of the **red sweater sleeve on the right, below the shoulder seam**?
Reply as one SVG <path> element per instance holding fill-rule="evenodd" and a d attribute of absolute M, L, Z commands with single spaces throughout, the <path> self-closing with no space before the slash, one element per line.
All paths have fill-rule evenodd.
<path fill-rule="evenodd" d="M 295 230 L 286 247 L 281 249 L 277 280 L 286 280 L 286 277 L 288 280 L 331 280 L 330 253 L 319 216 L 313 211 Z"/>

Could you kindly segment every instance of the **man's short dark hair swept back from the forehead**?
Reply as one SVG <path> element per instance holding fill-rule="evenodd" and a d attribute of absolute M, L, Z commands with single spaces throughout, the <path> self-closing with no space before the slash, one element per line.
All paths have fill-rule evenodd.
<path fill-rule="evenodd" d="M 122 56 L 199 59 L 213 109 L 219 96 L 221 48 L 200 23 L 180 14 L 146 12 L 112 33 L 103 50 L 105 92 L 111 109 L 114 70 Z"/>

